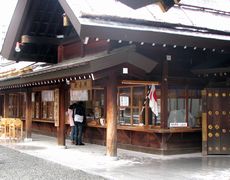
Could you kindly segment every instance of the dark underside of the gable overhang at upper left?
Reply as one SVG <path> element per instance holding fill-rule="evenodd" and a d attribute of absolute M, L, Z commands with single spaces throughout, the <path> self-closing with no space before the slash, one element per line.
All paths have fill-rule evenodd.
<path fill-rule="evenodd" d="M 74 29 L 63 27 L 63 13 L 58 0 L 19 0 L 2 47 L 2 56 L 17 61 L 56 63 L 57 47 L 63 43 L 62 37 L 77 37 Z M 16 42 L 21 43 L 20 52 L 15 51 Z"/>

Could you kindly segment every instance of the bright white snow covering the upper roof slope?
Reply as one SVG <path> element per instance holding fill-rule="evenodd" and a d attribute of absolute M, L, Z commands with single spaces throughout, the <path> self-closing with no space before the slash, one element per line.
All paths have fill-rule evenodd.
<path fill-rule="evenodd" d="M 181 0 L 180 4 L 199 6 L 204 9 L 174 6 L 165 13 L 161 11 L 157 4 L 135 10 L 115 0 L 67 0 L 67 3 L 77 17 L 84 15 L 110 16 L 230 32 L 230 12 L 227 8 L 230 7 L 230 0 Z M 213 8 L 214 11 L 206 11 L 205 8 Z M 226 11 L 226 13 L 223 13 L 223 11 Z"/>

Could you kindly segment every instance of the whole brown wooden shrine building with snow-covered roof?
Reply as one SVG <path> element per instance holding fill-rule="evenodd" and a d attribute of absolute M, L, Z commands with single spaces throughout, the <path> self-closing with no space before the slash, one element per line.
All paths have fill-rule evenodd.
<path fill-rule="evenodd" d="M 66 111 L 84 101 L 84 141 L 109 156 L 117 147 L 230 154 L 230 12 L 141 2 L 18 1 L 1 54 L 44 64 L 0 74 L 0 115 L 21 118 L 27 139 L 37 132 L 65 146 Z"/>

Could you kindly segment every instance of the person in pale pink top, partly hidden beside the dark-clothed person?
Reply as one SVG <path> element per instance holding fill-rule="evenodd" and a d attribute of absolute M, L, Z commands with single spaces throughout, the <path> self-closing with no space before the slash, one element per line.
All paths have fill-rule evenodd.
<path fill-rule="evenodd" d="M 74 124 L 74 116 L 73 116 L 73 110 L 74 110 L 74 106 L 76 106 L 76 103 L 72 104 L 69 106 L 68 108 L 68 120 L 69 120 L 69 125 L 70 125 L 70 140 L 71 140 L 71 144 L 74 144 L 76 141 L 76 127 Z"/>

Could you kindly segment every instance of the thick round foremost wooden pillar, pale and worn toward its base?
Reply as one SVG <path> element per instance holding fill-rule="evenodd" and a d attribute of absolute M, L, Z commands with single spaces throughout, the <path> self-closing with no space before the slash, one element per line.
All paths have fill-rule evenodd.
<path fill-rule="evenodd" d="M 117 79 L 115 73 L 111 73 L 107 83 L 107 131 L 106 131 L 106 155 L 117 156 Z"/>

